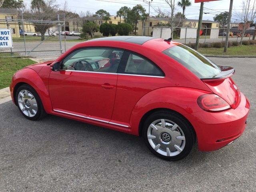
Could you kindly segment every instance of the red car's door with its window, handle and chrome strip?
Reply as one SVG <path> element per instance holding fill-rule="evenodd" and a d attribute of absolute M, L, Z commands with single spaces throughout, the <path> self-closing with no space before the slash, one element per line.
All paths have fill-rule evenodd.
<path fill-rule="evenodd" d="M 110 48 L 82 48 L 64 58 L 52 71 L 49 92 L 53 110 L 109 122 L 116 95 L 117 69 Z"/>

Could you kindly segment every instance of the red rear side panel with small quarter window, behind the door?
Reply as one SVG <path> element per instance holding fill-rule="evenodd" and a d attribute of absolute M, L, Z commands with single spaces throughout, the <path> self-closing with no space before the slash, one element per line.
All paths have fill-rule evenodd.
<path fill-rule="evenodd" d="M 111 123 L 129 125 L 131 112 L 140 98 L 148 92 L 166 87 L 164 72 L 147 58 L 124 52 L 118 68 L 116 100 Z"/>

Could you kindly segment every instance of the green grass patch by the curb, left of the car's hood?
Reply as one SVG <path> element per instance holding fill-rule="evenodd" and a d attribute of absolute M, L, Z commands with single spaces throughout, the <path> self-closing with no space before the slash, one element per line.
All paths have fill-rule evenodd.
<path fill-rule="evenodd" d="M 1 56 L 1 55 L 0 55 Z M 0 57 L 0 89 L 10 85 L 13 74 L 25 66 L 34 64 L 31 59 Z"/>

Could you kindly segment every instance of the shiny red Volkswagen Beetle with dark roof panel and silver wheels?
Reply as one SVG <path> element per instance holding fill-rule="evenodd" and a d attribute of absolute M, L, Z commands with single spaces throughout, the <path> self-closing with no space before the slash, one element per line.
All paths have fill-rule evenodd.
<path fill-rule="evenodd" d="M 180 160 L 196 138 L 212 151 L 244 131 L 250 104 L 234 72 L 170 39 L 116 36 L 25 67 L 10 91 L 30 120 L 53 114 L 142 136 L 156 156 Z"/>

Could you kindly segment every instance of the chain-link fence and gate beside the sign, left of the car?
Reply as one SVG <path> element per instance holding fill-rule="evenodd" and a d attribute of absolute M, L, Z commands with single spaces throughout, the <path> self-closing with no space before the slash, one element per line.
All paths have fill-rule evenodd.
<path fill-rule="evenodd" d="M 64 22 L 6 17 L 0 20 L 0 28 L 11 29 L 13 42 L 13 48 L 0 48 L 0 57 L 57 56 L 66 50 L 61 34 Z"/>

